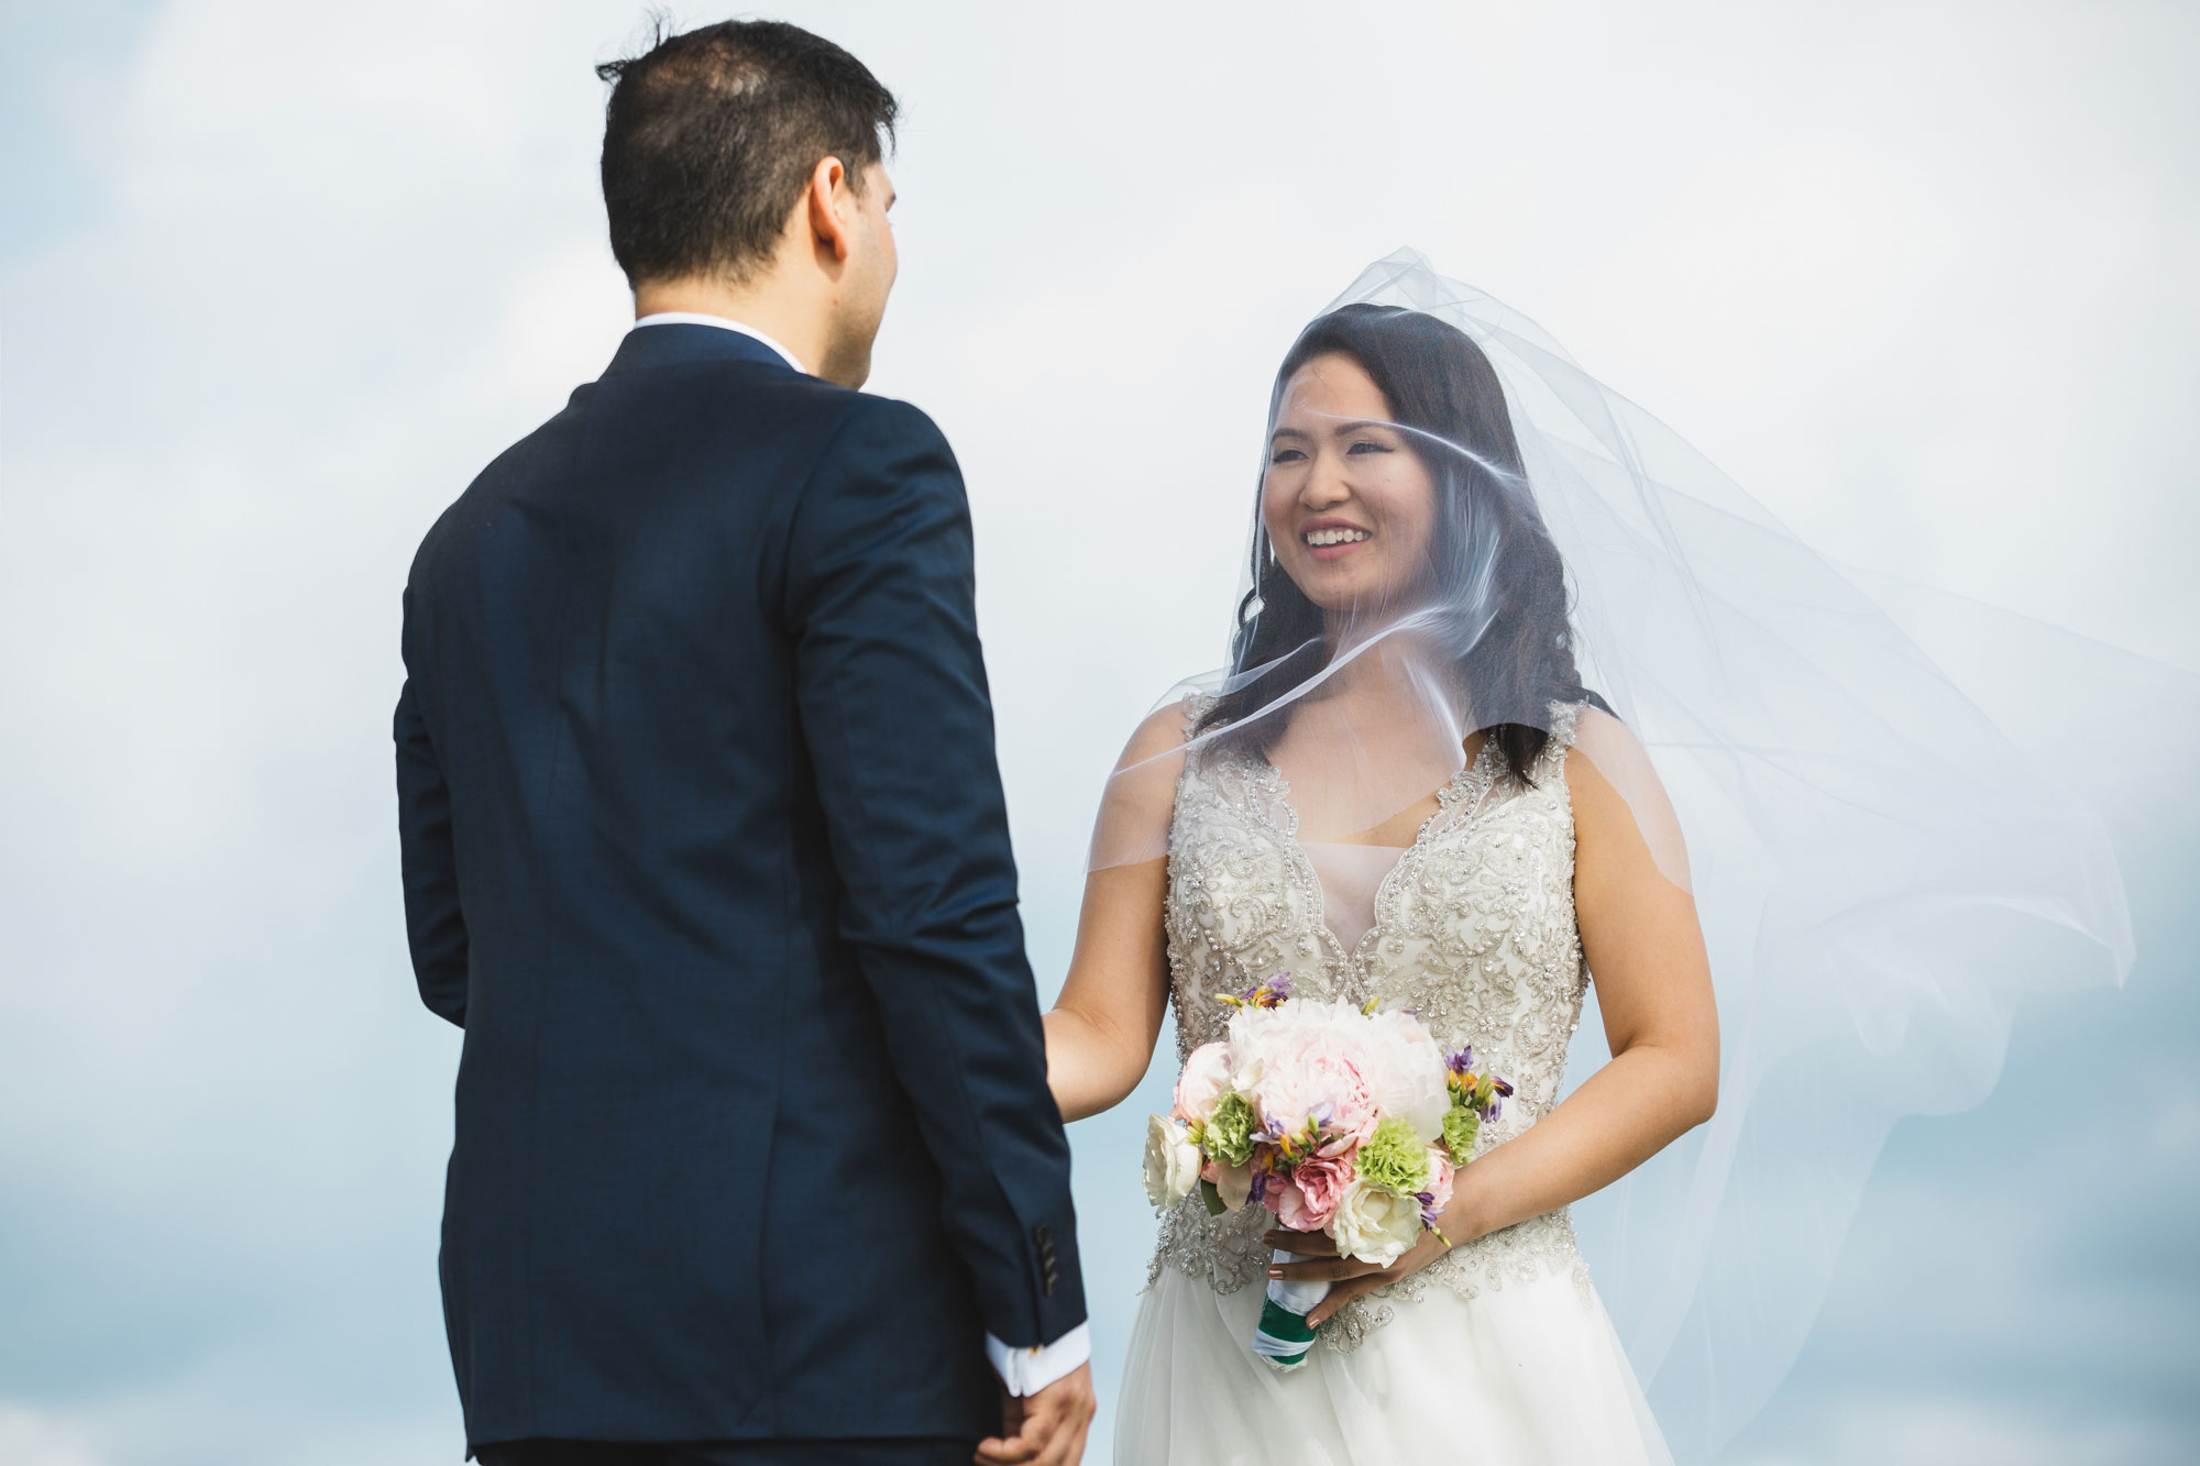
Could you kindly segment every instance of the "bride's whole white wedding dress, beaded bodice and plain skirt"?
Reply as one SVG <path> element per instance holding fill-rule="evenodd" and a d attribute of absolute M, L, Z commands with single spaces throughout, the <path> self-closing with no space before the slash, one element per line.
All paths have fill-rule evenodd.
<path fill-rule="evenodd" d="M 1192 698 L 1186 711 L 1197 720 L 1206 702 Z M 1223 1037 L 1230 1008 L 1214 993 L 1287 971 L 1300 997 L 1412 1008 L 1439 1043 L 1472 1043 L 1487 1072 L 1509 1079 L 1514 1098 L 1481 1129 L 1476 1153 L 1536 1125 L 1558 1098 L 1588 986 L 1566 792 L 1582 715 L 1551 709 L 1551 742 L 1529 784 L 1503 777 L 1485 744 L 1382 876 L 1351 947 L 1329 916 L 1338 894 L 1324 891 L 1298 839 L 1283 775 L 1230 744 L 1192 748 L 1168 836 L 1179 1061 Z M 1384 858 L 1368 854 L 1355 869 Z M 1346 872 L 1338 861 L 1324 852 Z M 1461 1184 L 1472 1184 L 1472 1167 Z M 1164 1215 L 1115 1418 L 1122 1466 L 1672 1459 L 1564 1208 L 1355 1299 L 1291 1374 L 1247 1347 L 1272 1222 L 1261 1206 L 1210 1217 L 1197 1193 Z"/>

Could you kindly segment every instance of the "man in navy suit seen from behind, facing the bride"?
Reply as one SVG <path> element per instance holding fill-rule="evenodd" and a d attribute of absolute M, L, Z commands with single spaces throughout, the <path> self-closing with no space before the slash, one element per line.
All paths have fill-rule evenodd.
<path fill-rule="evenodd" d="M 970 519 L 939 429 L 858 392 L 893 97 L 768 22 L 603 70 L 638 319 L 405 592 L 469 1455 L 1071 1464 L 1069 1147 Z"/>

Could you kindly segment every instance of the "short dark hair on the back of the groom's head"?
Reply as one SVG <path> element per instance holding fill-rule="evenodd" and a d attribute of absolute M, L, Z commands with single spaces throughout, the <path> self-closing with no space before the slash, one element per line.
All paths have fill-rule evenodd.
<path fill-rule="evenodd" d="M 893 92 L 821 35 L 724 20 L 605 62 L 603 205 L 627 284 L 726 275 L 772 258 L 812 169 L 840 158 L 849 187 L 893 141 Z"/>

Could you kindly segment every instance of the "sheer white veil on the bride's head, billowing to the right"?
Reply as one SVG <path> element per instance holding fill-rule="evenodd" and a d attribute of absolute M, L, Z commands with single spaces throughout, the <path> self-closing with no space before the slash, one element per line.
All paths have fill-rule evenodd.
<path fill-rule="evenodd" d="M 1219 698 L 1192 704 L 1210 711 L 1190 746 L 1269 751 L 1307 839 L 1412 808 L 1474 731 L 1573 733 L 1692 889 L 1718 991 L 1716 1118 L 1575 1208 L 1674 1455 L 1707 1459 L 1793 1365 L 1890 1127 L 1980 1101 L 2026 991 L 2123 980 L 2116 856 L 1962 667 L 1533 321 L 1412 251 L 1333 313 L 1346 337 L 1410 337 L 1393 379 L 1439 359 L 1465 372 L 1404 392 L 1437 407 L 1371 429 L 1441 484 L 1441 522 L 1397 581 L 1412 590 L 1294 630 L 1278 555 L 1296 546 L 1267 537 L 1256 495 L 1241 610 L 1219 627 L 1230 663 L 1133 742 L 1093 865 L 1166 852 L 1155 810 L 1184 762 L 1186 691 Z M 1500 401 L 1459 407 L 1461 392 Z M 1287 407 L 1278 392 L 1272 431 Z M 1276 442 L 1258 440 L 1261 473 Z M 2026 656 L 1995 634 L 1965 645 Z M 1373 665 L 1375 704 L 1335 696 Z M 1602 1057 L 1591 1015 L 1573 1074 Z"/>

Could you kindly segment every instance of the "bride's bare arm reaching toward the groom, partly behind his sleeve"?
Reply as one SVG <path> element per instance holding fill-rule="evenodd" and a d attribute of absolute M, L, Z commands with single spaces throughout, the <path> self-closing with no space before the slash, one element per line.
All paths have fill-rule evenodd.
<path fill-rule="evenodd" d="M 1047 1024 L 1047 1087 L 1063 1120 L 1120 1105 L 1153 1061 L 1168 1010 L 1168 819 L 1184 715 L 1146 720 L 1109 779 L 1085 876 L 1078 944 Z"/>

